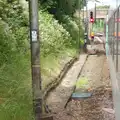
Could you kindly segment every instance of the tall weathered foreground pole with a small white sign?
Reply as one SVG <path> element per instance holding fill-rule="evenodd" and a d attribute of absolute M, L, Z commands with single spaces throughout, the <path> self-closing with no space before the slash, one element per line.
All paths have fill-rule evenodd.
<path fill-rule="evenodd" d="M 42 93 L 40 74 L 40 41 L 38 24 L 38 0 L 29 0 L 30 41 L 31 41 L 31 69 L 33 88 L 33 107 L 35 120 L 41 120 Z"/>

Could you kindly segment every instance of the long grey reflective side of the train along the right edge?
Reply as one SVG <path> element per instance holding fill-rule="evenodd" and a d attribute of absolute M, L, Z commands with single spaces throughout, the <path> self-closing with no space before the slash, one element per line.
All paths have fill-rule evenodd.
<path fill-rule="evenodd" d="M 106 22 L 106 55 L 109 61 L 110 77 L 116 120 L 120 120 L 120 6 Z"/>

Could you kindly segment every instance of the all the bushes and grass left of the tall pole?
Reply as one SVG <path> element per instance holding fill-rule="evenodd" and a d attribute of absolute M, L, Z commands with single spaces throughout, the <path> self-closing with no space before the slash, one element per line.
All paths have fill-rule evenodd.
<path fill-rule="evenodd" d="M 0 1 L 0 119 L 32 120 L 27 18 L 19 4 Z"/>

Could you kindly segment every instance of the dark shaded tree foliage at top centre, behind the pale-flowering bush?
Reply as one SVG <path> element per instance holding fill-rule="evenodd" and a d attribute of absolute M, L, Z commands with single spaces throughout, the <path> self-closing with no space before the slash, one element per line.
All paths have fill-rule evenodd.
<path fill-rule="evenodd" d="M 73 15 L 76 9 L 82 9 L 84 6 L 83 0 L 40 0 L 42 9 L 48 10 L 50 14 L 59 21 L 66 29 L 72 40 L 69 40 L 72 46 L 76 47 L 78 39 L 83 38 L 83 29 L 79 25 L 79 21 L 74 20 Z M 80 30 L 80 31 L 79 31 Z M 80 34 L 79 34 L 80 33 Z"/>

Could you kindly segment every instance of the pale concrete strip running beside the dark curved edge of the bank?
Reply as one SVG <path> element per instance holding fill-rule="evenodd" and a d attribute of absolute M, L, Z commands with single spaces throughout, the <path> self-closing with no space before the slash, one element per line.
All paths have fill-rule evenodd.
<path fill-rule="evenodd" d="M 88 54 L 81 54 L 79 59 L 74 62 L 73 66 L 67 70 L 60 84 L 50 92 L 46 98 L 47 105 L 50 111 L 56 113 L 58 110 L 63 110 L 75 89 L 75 83 L 82 71 L 82 68 L 88 58 Z"/>

